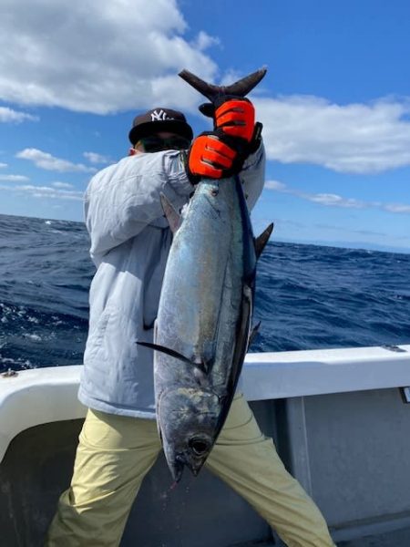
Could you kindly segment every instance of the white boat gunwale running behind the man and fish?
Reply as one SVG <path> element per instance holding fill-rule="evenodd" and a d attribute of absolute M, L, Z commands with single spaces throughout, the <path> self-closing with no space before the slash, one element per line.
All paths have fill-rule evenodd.
<path fill-rule="evenodd" d="M 84 418 L 78 366 L 0 377 L 0 462 L 10 442 L 38 425 Z M 241 388 L 250 401 L 410 386 L 410 345 L 250 353 Z"/>

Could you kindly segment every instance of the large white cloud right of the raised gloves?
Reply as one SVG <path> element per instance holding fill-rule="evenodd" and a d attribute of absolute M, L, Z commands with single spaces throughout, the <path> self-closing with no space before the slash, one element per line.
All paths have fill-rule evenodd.
<path fill-rule="evenodd" d="M 337 105 L 323 98 L 254 98 L 270 160 L 371 173 L 410 165 L 410 98 Z"/>

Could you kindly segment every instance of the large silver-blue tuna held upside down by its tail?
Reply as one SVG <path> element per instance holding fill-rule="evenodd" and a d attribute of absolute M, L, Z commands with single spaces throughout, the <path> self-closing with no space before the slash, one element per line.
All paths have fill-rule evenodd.
<path fill-rule="evenodd" d="M 227 88 L 183 71 L 211 100 L 245 96 L 264 70 Z M 169 470 L 197 475 L 222 428 L 251 337 L 255 242 L 238 177 L 200 181 L 183 219 L 163 198 L 174 231 L 155 327 L 154 377 L 159 434 Z"/>

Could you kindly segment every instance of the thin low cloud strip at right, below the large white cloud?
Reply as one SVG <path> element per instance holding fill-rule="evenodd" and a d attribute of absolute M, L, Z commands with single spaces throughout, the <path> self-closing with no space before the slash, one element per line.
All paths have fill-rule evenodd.
<path fill-rule="evenodd" d="M 292 194 L 297 198 L 301 198 L 306 201 L 313 201 L 327 207 L 344 207 L 347 209 L 368 209 L 377 208 L 387 212 L 408 213 L 410 212 L 410 205 L 401 203 L 383 203 L 380 201 L 362 201 L 355 200 L 354 198 L 343 198 L 338 194 L 333 193 L 308 193 L 295 188 L 290 188 L 283 182 L 279 181 L 266 181 L 265 188 L 273 191 L 280 191 L 282 193 Z"/>

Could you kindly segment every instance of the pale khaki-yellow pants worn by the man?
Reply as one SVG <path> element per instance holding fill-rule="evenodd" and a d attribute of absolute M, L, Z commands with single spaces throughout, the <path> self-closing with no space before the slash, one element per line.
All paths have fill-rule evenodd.
<path fill-rule="evenodd" d="M 88 410 L 71 487 L 58 502 L 46 547 L 119 545 L 132 502 L 160 449 L 155 420 Z M 234 398 L 206 465 L 289 547 L 334 546 L 322 514 L 284 469 L 242 396 Z"/>

